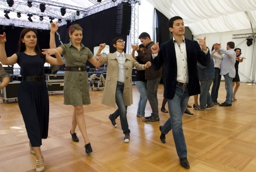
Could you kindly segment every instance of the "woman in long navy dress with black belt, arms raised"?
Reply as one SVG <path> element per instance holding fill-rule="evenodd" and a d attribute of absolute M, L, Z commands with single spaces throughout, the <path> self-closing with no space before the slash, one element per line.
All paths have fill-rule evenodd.
<path fill-rule="evenodd" d="M 30 151 L 36 155 L 36 171 L 44 170 L 44 159 L 40 146 L 48 136 L 49 97 L 44 80 L 44 63 L 62 65 L 63 60 L 56 49 L 39 49 L 36 30 L 25 28 L 19 40 L 19 50 L 6 56 L 6 34 L 0 35 L 0 61 L 4 65 L 20 65 L 22 81 L 18 89 L 18 105 L 25 122 Z M 55 55 L 56 58 L 50 56 Z"/>

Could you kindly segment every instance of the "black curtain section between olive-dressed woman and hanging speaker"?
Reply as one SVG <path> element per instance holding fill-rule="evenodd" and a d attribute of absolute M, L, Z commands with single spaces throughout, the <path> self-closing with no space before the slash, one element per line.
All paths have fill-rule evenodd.
<path fill-rule="evenodd" d="M 116 33 L 116 22 L 117 7 L 115 6 L 71 22 L 71 24 L 77 23 L 83 28 L 82 44 L 88 47 L 92 52 L 94 51 L 94 47 L 99 46 L 101 43 L 109 45 L 110 52 L 115 52 L 116 50 L 112 46 L 112 40 L 116 37 L 121 37 L 124 41 L 127 39 L 127 35 Z M 61 26 L 59 29 L 62 43 L 69 43 L 68 27 Z M 55 40 L 56 45 L 59 46 L 61 43 L 58 35 L 56 35 Z M 126 45 L 124 50 L 126 50 Z M 94 67 L 90 62 L 87 62 L 86 65 L 92 68 Z"/>

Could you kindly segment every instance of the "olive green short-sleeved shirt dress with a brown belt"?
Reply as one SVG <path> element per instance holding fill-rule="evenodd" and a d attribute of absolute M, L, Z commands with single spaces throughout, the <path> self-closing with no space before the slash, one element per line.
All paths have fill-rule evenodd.
<path fill-rule="evenodd" d="M 69 44 L 62 44 L 65 66 L 81 67 L 94 55 L 91 50 L 81 43 L 80 51 L 75 48 L 71 41 Z M 90 95 L 88 77 L 86 71 L 65 71 L 64 74 L 64 104 L 73 106 L 89 105 Z"/>

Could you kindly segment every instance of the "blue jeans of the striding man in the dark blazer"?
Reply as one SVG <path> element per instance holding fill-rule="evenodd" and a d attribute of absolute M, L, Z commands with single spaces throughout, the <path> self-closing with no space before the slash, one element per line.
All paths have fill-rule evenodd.
<path fill-rule="evenodd" d="M 186 110 L 188 99 L 188 88 L 176 85 L 174 98 L 167 99 L 170 118 L 161 128 L 164 134 L 167 134 L 172 129 L 176 151 L 180 158 L 187 156 L 187 146 L 182 129 L 182 115 Z"/>

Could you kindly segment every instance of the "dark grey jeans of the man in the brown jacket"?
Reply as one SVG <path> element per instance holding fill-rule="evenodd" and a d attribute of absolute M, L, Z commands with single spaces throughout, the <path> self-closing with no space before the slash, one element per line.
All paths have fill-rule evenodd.
<path fill-rule="evenodd" d="M 157 90 L 158 90 L 160 80 L 161 78 L 148 79 L 146 82 L 147 95 L 148 95 L 149 104 L 152 109 L 151 115 L 153 118 L 159 117 Z"/>

